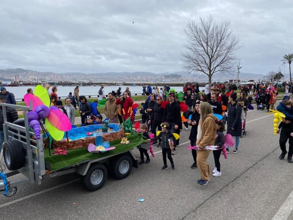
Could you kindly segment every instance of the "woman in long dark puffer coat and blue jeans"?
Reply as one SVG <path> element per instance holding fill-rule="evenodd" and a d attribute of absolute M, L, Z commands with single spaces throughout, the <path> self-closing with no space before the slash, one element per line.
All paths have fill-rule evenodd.
<path fill-rule="evenodd" d="M 241 113 L 242 107 L 237 105 L 237 94 L 233 93 L 229 96 L 228 119 L 227 119 L 227 134 L 235 136 L 235 148 L 233 153 L 238 152 L 239 136 L 242 132 Z M 231 146 L 230 146 L 231 147 Z M 229 153 L 229 146 L 226 148 Z"/>

